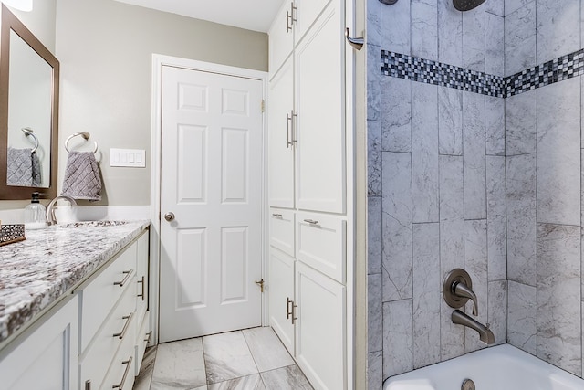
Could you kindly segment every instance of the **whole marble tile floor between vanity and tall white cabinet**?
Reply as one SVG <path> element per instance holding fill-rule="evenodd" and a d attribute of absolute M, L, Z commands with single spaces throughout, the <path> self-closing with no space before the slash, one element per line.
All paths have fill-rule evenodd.
<path fill-rule="evenodd" d="M 134 390 L 311 390 L 272 328 L 162 343 L 145 355 Z"/>

